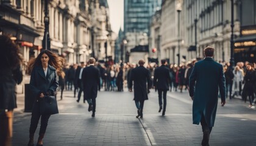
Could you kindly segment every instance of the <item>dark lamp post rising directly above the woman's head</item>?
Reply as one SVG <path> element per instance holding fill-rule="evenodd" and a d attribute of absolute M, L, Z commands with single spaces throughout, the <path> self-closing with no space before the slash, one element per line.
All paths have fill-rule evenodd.
<path fill-rule="evenodd" d="M 43 36 L 43 49 L 51 50 L 51 39 L 49 35 L 49 10 L 48 1 L 44 0 L 44 36 Z"/>

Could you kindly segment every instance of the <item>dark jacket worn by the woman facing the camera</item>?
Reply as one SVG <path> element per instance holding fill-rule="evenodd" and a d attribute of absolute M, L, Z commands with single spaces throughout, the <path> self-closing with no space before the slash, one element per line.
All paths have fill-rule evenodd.
<path fill-rule="evenodd" d="M 51 96 L 54 96 L 54 92 L 59 86 L 56 69 L 51 65 L 48 65 L 48 71 L 45 77 L 43 67 L 35 66 L 30 75 L 29 85 L 35 99 L 38 98 L 41 93 L 47 95 L 46 92 L 51 94 Z"/>

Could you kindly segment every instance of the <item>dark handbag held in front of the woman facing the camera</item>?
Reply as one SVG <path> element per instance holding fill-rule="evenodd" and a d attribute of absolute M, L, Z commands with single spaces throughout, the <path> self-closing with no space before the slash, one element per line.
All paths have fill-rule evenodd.
<path fill-rule="evenodd" d="M 40 102 L 41 114 L 58 114 L 59 109 L 55 96 L 44 96 Z"/>

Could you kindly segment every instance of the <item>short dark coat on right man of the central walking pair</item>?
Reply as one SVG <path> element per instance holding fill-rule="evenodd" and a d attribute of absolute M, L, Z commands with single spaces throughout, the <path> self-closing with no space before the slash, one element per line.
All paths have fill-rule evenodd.
<path fill-rule="evenodd" d="M 168 90 L 169 83 L 171 83 L 169 69 L 165 65 L 156 68 L 154 72 L 154 86 L 157 89 Z"/>

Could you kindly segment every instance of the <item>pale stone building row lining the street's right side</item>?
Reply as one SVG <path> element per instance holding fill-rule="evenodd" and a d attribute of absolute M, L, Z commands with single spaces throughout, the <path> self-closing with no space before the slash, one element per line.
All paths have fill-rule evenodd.
<path fill-rule="evenodd" d="M 177 12 L 179 3 L 182 9 Z M 235 62 L 255 61 L 255 4 L 254 0 L 234 0 L 233 5 L 230 0 L 163 1 L 160 58 L 166 58 L 169 63 L 177 64 L 180 57 L 180 63 L 185 63 L 193 58 L 204 58 L 204 48 L 213 46 L 216 61 L 230 61 L 231 8 L 233 7 Z M 157 24 L 152 21 L 152 28 Z M 155 30 L 151 29 L 151 33 L 155 33 Z M 155 44 L 153 35 L 149 44 L 152 46 Z M 180 55 L 178 55 L 179 47 Z M 150 57 L 153 56 L 154 54 L 151 53 Z"/>

